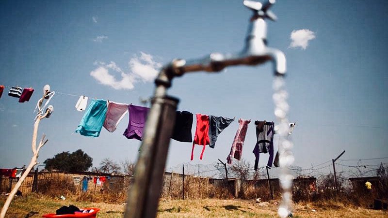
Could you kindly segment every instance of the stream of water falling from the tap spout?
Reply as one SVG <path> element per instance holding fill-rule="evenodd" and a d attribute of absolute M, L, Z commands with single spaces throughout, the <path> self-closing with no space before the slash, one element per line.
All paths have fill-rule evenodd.
<path fill-rule="evenodd" d="M 287 138 L 290 126 L 288 124 L 287 113 L 290 109 L 287 103 L 288 93 L 285 89 L 285 82 L 283 76 L 275 76 L 272 88 L 274 95 L 272 96 L 275 104 L 274 113 L 279 123 L 277 134 L 279 135 L 279 165 L 281 168 L 280 184 L 283 189 L 282 203 L 277 211 L 281 218 L 286 218 L 291 214 L 292 206 L 292 179 L 288 168 L 294 162 L 294 156 L 291 152 L 293 147 L 292 142 Z"/>

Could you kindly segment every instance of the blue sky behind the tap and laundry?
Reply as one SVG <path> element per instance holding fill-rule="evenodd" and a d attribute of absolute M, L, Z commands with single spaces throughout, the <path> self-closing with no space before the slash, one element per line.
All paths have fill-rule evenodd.
<path fill-rule="evenodd" d="M 279 0 L 272 10 L 278 21 L 268 21 L 268 42 L 287 57 L 289 117 L 297 122 L 294 165 L 311 167 L 342 150 L 343 159 L 387 157 L 388 4 Z M 35 92 L 30 102 L 18 103 L 4 90 L 0 168 L 30 162 L 33 109 L 45 84 L 57 94 L 50 102 L 53 115 L 39 128 L 39 135 L 46 133 L 49 139 L 40 162 L 77 149 L 89 154 L 94 166 L 104 158 L 136 160 L 140 142 L 122 136 L 128 116 L 113 133 L 103 129 L 98 138 L 81 136 L 74 133 L 83 116 L 74 107 L 78 97 L 61 93 L 139 105 L 140 97 L 153 93 L 156 70 L 173 58 L 241 50 L 250 16 L 241 0 L 1 1 L 0 85 L 33 87 Z M 290 46 L 291 32 L 300 29 L 315 36 L 305 49 Z M 236 116 L 215 149 L 206 148 L 203 160 L 196 146 L 193 164 L 226 160 L 238 118 L 275 119 L 272 79 L 272 66 L 266 63 L 174 80 L 169 93 L 180 99 L 179 110 Z M 255 141 L 251 122 L 245 160 L 254 161 Z M 167 168 L 190 161 L 190 152 L 190 143 L 172 140 Z M 259 164 L 266 164 L 268 155 L 260 157 Z"/>

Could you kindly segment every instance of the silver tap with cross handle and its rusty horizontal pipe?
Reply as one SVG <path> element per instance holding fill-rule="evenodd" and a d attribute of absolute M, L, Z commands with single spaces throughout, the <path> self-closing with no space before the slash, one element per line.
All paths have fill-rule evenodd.
<path fill-rule="evenodd" d="M 245 45 L 241 52 L 231 54 L 211 53 L 204 58 L 185 60 L 174 59 L 164 66 L 156 79 L 156 84 L 170 87 L 171 80 L 175 76 L 195 71 L 219 72 L 227 66 L 257 65 L 272 60 L 275 75 L 286 73 L 286 57 L 282 51 L 267 47 L 267 24 L 265 19 L 275 21 L 276 15 L 269 10 L 275 4 L 275 0 L 267 0 L 265 3 L 244 0 L 244 6 L 251 9 L 253 15 L 249 20 Z M 164 94 L 164 93 L 156 93 Z"/>

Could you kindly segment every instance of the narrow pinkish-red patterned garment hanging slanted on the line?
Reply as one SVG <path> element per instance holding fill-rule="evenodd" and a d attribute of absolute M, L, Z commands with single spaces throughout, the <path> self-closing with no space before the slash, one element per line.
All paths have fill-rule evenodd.
<path fill-rule="evenodd" d="M 251 120 L 239 119 L 239 129 L 234 136 L 232 147 L 230 148 L 230 153 L 227 156 L 226 160 L 228 164 L 232 164 L 233 158 L 241 160 L 242 156 L 242 145 L 244 145 L 246 131 L 248 130 L 248 124 Z"/>

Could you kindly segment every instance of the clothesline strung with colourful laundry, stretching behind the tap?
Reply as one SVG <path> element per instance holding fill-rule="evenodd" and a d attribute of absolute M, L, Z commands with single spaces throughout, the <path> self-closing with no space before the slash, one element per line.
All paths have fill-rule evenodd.
<path fill-rule="evenodd" d="M 7 87 L 9 86 L 7 85 Z M 11 87 L 10 93 L 12 89 L 17 89 L 17 91 L 19 91 L 21 88 Z M 45 93 L 50 93 L 49 85 L 46 85 L 43 90 Z M 116 127 L 118 126 L 122 118 L 129 112 L 128 128 L 124 131 L 123 135 L 126 136 L 128 139 L 137 139 L 139 141 L 142 141 L 144 126 L 146 124 L 146 118 L 149 111 L 148 107 L 111 102 L 109 100 L 105 101 L 103 99 L 96 98 L 92 99 L 89 105 L 87 105 L 89 99 L 87 96 L 75 95 L 58 91 L 51 91 L 52 95 L 50 95 L 49 99 L 51 99 L 53 94 L 55 93 L 67 96 L 80 97 L 78 102 L 76 102 L 75 107 L 78 111 L 85 111 L 85 113 L 82 116 L 81 122 L 75 132 L 79 132 L 81 135 L 84 136 L 93 137 L 99 136 L 102 127 L 104 127 L 109 132 L 113 132 L 116 130 Z M 43 98 L 46 98 L 48 95 L 49 94 L 46 94 Z M 18 95 L 18 97 L 20 97 L 20 95 Z M 38 101 L 38 104 L 42 99 Z M 204 153 L 206 145 L 209 145 L 211 148 L 214 148 L 218 135 L 235 119 L 222 116 L 208 116 L 203 114 L 196 114 L 196 131 L 194 140 L 192 140 L 191 130 L 193 126 L 193 114 L 188 111 L 177 111 L 176 113 L 176 123 L 174 125 L 174 131 L 171 138 L 180 142 L 193 142 L 191 160 L 193 160 L 194 156 L 194 145 L 203 145 L 202 153 L 200 155 L 200 159 L 202 159 L 202 155 Z M 229 164 L 232 163 L 232 159 L 241 159 L 242 146 L 245 140 L 245 134 L 248 128 L 248 124 L 251 122 L 251 120 L 245 120 L 240 118 L 238 122 L 240 125 L 234 138 L 230 153 L 227 157 L 227 162 Z M 274 122 L 266 122 L 265 120 L 256 121 L 255 125 L 258 137 L 257 144 L 255 145 L 255 149 L 253 151 L 256 156 L 255 170 L 257 170 L 259 162 L 259 153 L 269 152 L 270 158 L 268 160 L 267 166 L 272 167 L 274 158 L 273 136 L 276 131 Z M 293 128 L 295 123 L 289 125 L 291 128 Z M 276 153 L 275 162 L 278 162 L 277 159 L 278 153 Z M 278 163 L 275 164 L 275 166 L 278 166 Z"/>

